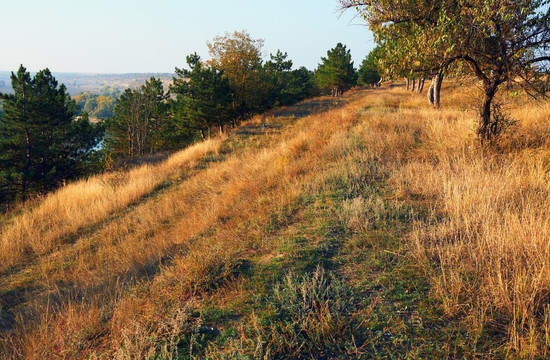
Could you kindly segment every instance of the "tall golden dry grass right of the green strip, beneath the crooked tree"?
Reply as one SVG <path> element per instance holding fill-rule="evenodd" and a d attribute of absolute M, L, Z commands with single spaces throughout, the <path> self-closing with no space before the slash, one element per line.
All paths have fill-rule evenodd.
<path fill-rule="evenodd" d="M 454 90 L 448 104 L 453 96 L 463 94 Z M 411 239 L 447 315 L 465 319 L 472 342 L 499 334 L 514 357 L 533 358 L 550 350 L 550 106 L 525 100 L 510 114 L 514 132 L 492 148 L 475 141 L 472 112 L 450 105 L 371 117 L 369 128 L 395 130 L 367 136 L 377 136 L 372 144 L 399 136 L 389 139 L 401 148 L 391 182 L 432 214 Z"/>

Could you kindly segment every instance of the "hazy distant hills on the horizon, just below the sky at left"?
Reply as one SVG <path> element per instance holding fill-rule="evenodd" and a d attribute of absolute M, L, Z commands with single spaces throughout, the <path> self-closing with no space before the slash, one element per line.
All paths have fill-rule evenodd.
<path fill-rule="evenodd" d="M 11 71 L 0 71 L 0 92 L 9 93 L 11 89 Z M 120 89 L 135 88 L 154 76 L 160 78 L 167 88 L 172 82 L 172 73 L 128 73 L 128 74 L 94 74 L 94 73 L 53 73 L 60 84 L 65 84 L 69 94 L 75 96 L 84 91 L 100 93 L 103 87 Z"/>

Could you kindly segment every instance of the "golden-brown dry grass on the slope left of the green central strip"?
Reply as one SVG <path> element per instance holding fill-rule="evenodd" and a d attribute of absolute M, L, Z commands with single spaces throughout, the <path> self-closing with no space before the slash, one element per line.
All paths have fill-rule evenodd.
<path fill-rule="evenodd" d="M 192 329 L 180 324 L 188 319 L 182 309 L 229 286 L 246 256 L 241 254 L 273 246 L 262 243 L 260 229 L 271 213 L 297 198 L 331 133 L 345 130 L 360 107 L 303 120 L 298 130 L 211 163 L 155 197 L 147 195 L 216 153 L 224 140 L 197 145 L 155 167 L 69 185 L 15 217 L 3 229 L 4 239 L 19 236 L 13 243 L 4 240 L 13 249 L 5 264 L 25 260 L 25 248 L 35 260 L 2 279 L 6 297 L 24 289 L 15 300 L 24 306 L 19 311 L 15 301 L 9 304 L 7 310 L 20 315 L 1 349 L 26 359 L 169 354 L 159 343 Z M 46 221 L 50 215 L 53 227 Z M 64 241 L 67 233 L 70 242 Z M 174 321 L 179 325 L 166 325 Z"/>

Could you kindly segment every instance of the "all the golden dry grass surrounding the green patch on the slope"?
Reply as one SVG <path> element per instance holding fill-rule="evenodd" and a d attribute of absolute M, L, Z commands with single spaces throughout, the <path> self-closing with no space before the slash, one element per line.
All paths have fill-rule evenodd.
<path fill-rule="evenodd" d="M 392 198 L 350 197 L 341 220 L 365 231 L 387 216 L 387 204 L 424 209 L 407 246 L 446 315 L 467 326 L 473 343 L 490 333 L 511 357 L 547 356 L 550 105 L 515 99 L 515 132 L 488 148 L 475 138 L 469 93 L 447 86 L 433 110 L 400 88 L 369 90 L 269 130 L 254 146 L 237 144 L 204 170 L 191 173 L 231 148 L 233 136 L 48 196 L 1 229 L 2 311 L 16 317 L 4 319 L 0 351 L 14 359 L 176 356 L 180 339 L 192 348 L 202 326 L 192 314 L 203 299 L 243 296 L 244 264 L 282 256 L 284 237 L 268 236 L 272 214 L 322 192 L 329 178 L 365 186 L 362 164 L 376 163 Z"/>

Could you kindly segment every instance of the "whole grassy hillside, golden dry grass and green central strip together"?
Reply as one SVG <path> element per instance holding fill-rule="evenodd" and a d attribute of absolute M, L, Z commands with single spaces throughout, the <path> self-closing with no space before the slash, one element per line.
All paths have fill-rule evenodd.
<path fill-rule="evenodd" d="M 386 85 L 4 216 L 10 359 L 545 358 L 550 104 Z"/>

